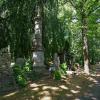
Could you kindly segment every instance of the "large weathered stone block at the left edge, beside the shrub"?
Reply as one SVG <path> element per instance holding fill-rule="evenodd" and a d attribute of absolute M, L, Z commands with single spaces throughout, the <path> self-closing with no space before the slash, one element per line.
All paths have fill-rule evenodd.
<path fill-rule="evenodd" d="M 0 92 L 16 88 L 8 47 L 0 50 Z M 11 85 L 10 85 L 11 84 Z"/>

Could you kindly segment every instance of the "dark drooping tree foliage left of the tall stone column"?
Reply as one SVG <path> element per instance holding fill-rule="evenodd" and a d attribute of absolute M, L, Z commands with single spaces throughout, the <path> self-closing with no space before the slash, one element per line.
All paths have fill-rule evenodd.
<path fill-rule="evenodd" d="M 2 4 L 2 5 L 1 5 Z M 32 15 L 35 13 L 33 0 L 0 1 L 0 17 L 9 30 L 9 44 L 13 58 L 29 57 L 31 49 Z M 4 23 L 3 23 L 4 24 Z M 3 34 L 1 34 L 3 36 Z M 8 32 L 6 34 L 8 37 Z"/>

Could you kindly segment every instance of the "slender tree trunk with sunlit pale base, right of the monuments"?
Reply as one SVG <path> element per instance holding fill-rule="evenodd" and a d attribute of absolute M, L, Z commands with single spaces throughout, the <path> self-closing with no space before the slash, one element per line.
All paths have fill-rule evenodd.
<path fill-rule="evenodd" d="M 82 40 L 83 40 L 83 57 L 84 57 L 84 72 L 89 74 L 89 55 L 88 55 L 88 40 L 87 40 L 87 18 L 82 16 Z"/>

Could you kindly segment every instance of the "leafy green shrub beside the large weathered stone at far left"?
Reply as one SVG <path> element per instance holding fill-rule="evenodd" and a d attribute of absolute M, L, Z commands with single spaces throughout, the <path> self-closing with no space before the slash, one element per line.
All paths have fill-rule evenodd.
<path fill-rule="evenodd" d="M 24 66 L 13 66 L 14 77 L 19 86 L 24 87 L 27 85 L 29 74 L 31 73 L 31 67 L 29 61 L 27 61 Z"/>

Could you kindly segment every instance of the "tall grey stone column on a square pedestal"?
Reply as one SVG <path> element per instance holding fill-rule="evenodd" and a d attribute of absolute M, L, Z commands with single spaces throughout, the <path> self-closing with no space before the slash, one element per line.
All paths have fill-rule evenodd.
<path fill-rule="evenodd" d="M 41 7 L 36 7 L 37 15 L 34 18 L 34 37 L 33 37 L 33 70 L 41 71 L 44 67 L 44 52 L 42 45 L 42 16 Z"/>

